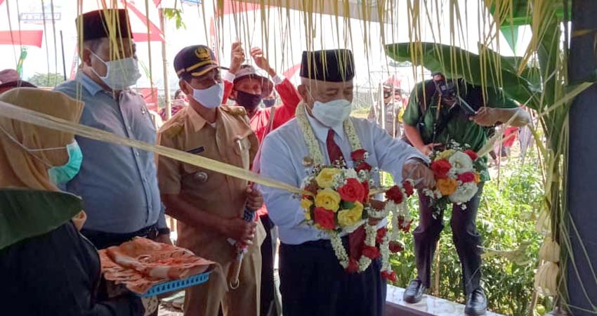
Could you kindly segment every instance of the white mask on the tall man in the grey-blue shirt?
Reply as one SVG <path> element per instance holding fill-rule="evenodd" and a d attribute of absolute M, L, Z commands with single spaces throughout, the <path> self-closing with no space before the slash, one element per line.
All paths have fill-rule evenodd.
<path fill-rule="evenodd" d="M 104 61 L 96 53 L 93 53 L 93 51 L 90 52 L 106 65 L 106 75 L 104 77 L 100 76 L 93 67 L 91 71 L 100 77 L 106 86 L 109 86 L 114 91 L 120 91 L 133 86 L 141 77 L 138 62 L 135 58 L 127 57 L 119 60 Z"/>

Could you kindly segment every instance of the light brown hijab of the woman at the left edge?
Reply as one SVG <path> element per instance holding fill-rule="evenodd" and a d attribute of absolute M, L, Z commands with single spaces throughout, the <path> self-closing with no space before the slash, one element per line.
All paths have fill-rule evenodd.
<path fill-rule="evenodd" d="M 84 103 L 55 91 L 15 88 L 0 94 L 0 102 L 79 122 Z M 7 135 L 8 134 L 8 135 Z M 48 177 L 51 166 L 68 161 L 65 146 L 74 135 L 0 116 L 0 187 L 58 191 Z M 29 152 L 29 150 L 36 150 Z M 58 148 L 54 150 L 39 150 Z"/>

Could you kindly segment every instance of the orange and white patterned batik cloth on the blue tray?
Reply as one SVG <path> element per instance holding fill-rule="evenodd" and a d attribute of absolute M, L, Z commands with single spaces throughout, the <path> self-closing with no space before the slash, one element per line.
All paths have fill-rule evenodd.
<path fill-rule="evenodd" d="M 143 237 L 99 253 L 105 279 L 137 294 L 144 294 L 155 284 L 198 275 L 213 264 L 188 249 Z"/>

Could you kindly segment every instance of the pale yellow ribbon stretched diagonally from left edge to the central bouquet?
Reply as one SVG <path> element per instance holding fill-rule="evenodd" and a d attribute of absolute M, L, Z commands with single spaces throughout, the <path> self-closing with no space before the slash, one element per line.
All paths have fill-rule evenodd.
<path fill-rule="evenodd" d="M 254 173 L 249 170 L 239 168 L 237 166 L 232 166 L 230 164 L 225 164 L 223 162 L 218 162 L 217 160 L 214 160 L 214 159 L 201 157 L 196 154 L 190 154 L 188 152 L 183 152 L 181 150 L 175 150 L 170 147 L 164 147 L 164 146 L 160 146 L 160 145 L 152 145 L 152 144 L 145 143 L 145 142 L 142 142 L 139 140 L 132 140 L 130 138 L 116 136 L 113 133 L 109 133 L 107 131 L 102 131 L 100 129 L 94 129 L 93 127 L 72 123 L 65 119 L 60 119 L 58 117 L 53 117 L 51 115 L 40 113 L 40 112 L 29 110 L 29 109 L 25 109 L 23 107 L 17 107 L 15 105 L 11 105 L 11 104 L 4 103 L 1 101 L 0 101 L 0 115 L 3 117 L 8 117 L 9 119 L 16 119 L 18 121 L 24 121 L 25 123 L 46 127 L 48 129 L 55 129 L 56 131 L 73 133 L 78 136 L 83 136 L 83 137 L 91 138 L 94 140 L 100 140 L 100 141 L 103 141 L 106 143 L 112 143 L 112 144 L 116 144 L 116 145 L 124 145 L 124 146 L 137 148 L 139 150 L 155 152 L 156 154 L 160 154 L 164 157 L 176 159 L 178 161 L 185 162 L 187 164 L 192 164 L 193 166 L 199 166 L 204 169 L 223 173 L 226 176 L 240 178 L 242 180 L 251 181 L 253 183 L 258 183 L 258 184 L 265 185 L 268 187 L 273 187 L 273 188 L 280 189 L 280 190 L 286 190 L 286 191 L 298 193 L 301 195 L 303 193 L 305 193 L 303 190 L 299 189 L 298 187 L 294 187 L 292 185 L 280 182 L 278 180 L 265 178 L 265 177 L 259 175 L 258 173 Z"/>

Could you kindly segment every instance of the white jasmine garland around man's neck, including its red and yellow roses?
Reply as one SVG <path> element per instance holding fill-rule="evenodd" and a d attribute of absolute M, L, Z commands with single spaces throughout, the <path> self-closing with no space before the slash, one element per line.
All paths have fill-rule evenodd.
<path fill-rule="evenodd" d="M 324 166 L 324 154 L 308 121 L 304 103 L 296 108 L 296 119 L 309 152 L 309 157 L 303 158 L 303 164 L 308 169 L 307 177 L 301 182 L 306 190 L 301 199 L 306 223 L 327 233 L 339 264 L 347 272 L 363 272 L 369 268 L 373 259 L 381 256 L 382 276 L 395 279 L 388 263 L 389 246 L 392 237 L 397 239 L 398 231 L 404 230 L 399 229 L 398 218 L 401 218 L 401 223 L 405 223 L 408 216 L 405 203 L 408 195 L 405 188 L 400 185 L 391 187 L 391 194 L 386 193 L 386 197 L 390 196 L 388 201 L 373 200 L 379 207 L 372 207 L 369 188 L 375 185 L 372 173 L 378 169 L 367 164 L 369 154 L 362 148 L 353 121 L 349 118 L 343 122 L 343 129 L 350 143 L 350 158 L 354 163 L 354 168 L 348 168 L 345 161 Z M 411 185 L 412 191 L 412 182 L 405 183 Z M 386 228 L 377 229 L 379 220 L 386 218 L 389 213 L 393 214 L 393 220 L 396 221 L 395 233 L 391 237 L 386 233 Z M 354 232 L 363 225 L 365 240 L 361 255 L 359 258 L 350 258 L 343 246 L 341 234 Z"/>

